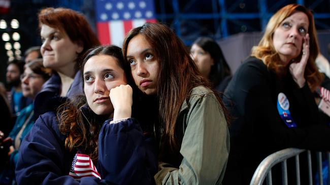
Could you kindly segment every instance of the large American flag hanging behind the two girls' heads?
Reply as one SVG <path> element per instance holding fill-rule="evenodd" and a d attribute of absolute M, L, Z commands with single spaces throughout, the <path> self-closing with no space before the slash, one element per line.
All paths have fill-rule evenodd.
<path fill-rule="evenodd" d="M 156 22 L 153 0 L 96 0 L 96 26 L 102 44 L 121 47 L 126 33 Z"/>

